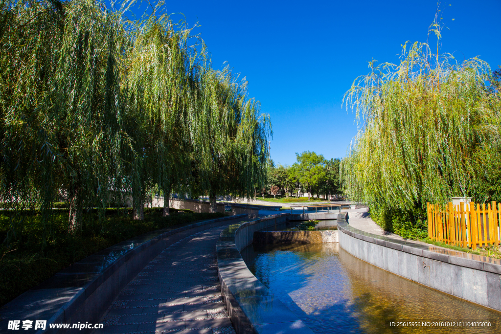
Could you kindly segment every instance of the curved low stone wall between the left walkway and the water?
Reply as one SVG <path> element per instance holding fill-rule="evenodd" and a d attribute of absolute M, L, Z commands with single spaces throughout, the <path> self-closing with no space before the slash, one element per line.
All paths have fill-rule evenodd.
<path fill-rule="evenodd" d="M 221 294 L 237 334 L 313 334 L 303 321 L 250 272 L 240 251 L 253 242 L 254 232 L 287 222 L 288 213 L 226 228 L 216 245 Z"/>

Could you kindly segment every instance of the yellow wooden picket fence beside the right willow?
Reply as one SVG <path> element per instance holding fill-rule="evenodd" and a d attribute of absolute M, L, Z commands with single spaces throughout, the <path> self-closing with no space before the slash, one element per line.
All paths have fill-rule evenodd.
<path fill-rule="evenodd" d="M 444 208 L 427 203 L 428 237 L 461 247 L 484 247 L 499 245 L 499 221 L 501 203 L 453 205 Z"/>

